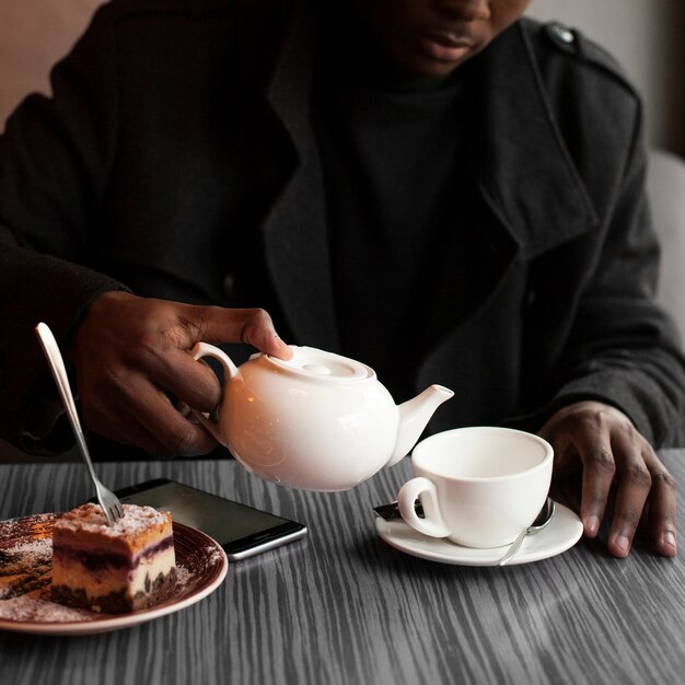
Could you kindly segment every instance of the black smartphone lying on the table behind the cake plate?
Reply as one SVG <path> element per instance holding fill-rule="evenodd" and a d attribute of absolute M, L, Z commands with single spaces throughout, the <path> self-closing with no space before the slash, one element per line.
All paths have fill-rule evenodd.
<path fill-rule="evenodd" d="M 306 526 L 302 523 L 167 478 L 132 485 L 116 490 L 116 495 L 129 504 L 148 504 L 171 511 L 174 521 L 216 539 L 233 561 L 306 535 Z"/>

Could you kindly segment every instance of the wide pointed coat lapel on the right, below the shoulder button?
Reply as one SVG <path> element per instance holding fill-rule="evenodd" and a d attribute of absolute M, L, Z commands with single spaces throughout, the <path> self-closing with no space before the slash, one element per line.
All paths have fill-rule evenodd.
<path fill-rule="evenodd" d="M 523 21 L 502 34 L 475 76 L 480 191 L 529 259 L 589 230 L 597 216 L 555 125 L 526 27 Z"/>

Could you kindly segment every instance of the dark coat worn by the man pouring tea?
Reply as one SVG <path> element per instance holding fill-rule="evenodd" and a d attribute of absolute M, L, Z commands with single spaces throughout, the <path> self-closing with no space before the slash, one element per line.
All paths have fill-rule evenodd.
<path fill-rule="evenodd" d="M 265 306 L 288 341 L 339 349 L 309 117 L 312 22 L 291 4 L 112 2 L 55 69 L 54 100 L 32 96 L 9 120 L 0 437 L 40 448 L 51 381 L 35 323 L 63 339 L 109 288 Z M 590 397 L 671 444 L 685 371 L 651 300 L 639 98 L 599 47 L 562 35 L 523 20 L 475 58 L 471 220 L 485 248 L 473 258 L 489 286 L 407 374 L 456 393 L 433 430 L 535 429 Z"/>

